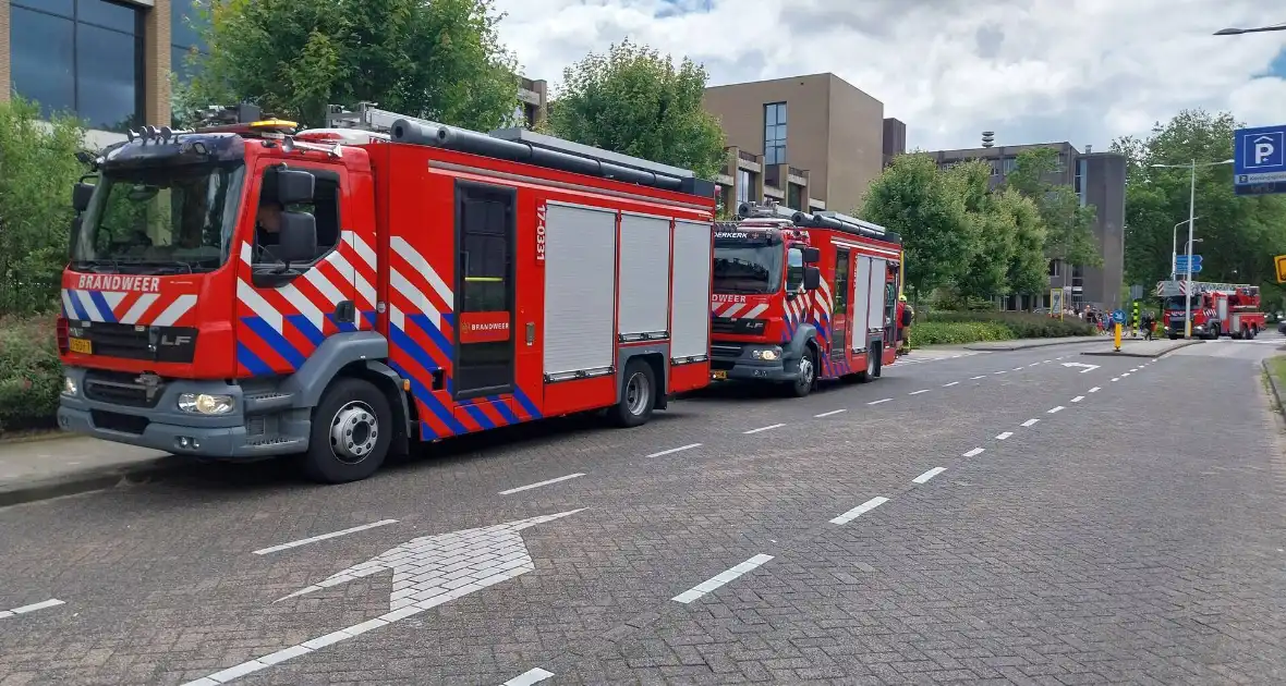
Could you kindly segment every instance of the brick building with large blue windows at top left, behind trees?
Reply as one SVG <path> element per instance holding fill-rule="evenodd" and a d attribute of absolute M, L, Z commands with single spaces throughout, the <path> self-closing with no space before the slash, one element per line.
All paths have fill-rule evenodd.
<path fill-rule="evenodd" d="M 0 100 L 17 92 L 45 113 L 75 112 L 91 145 L 131 126 L 170 123 L 170 75 L 203 51 L 193 0 L 0 0 Z M 544 117 L 544 81 L 520 80 L 516 114 Z M 341 103 L 355 104 L 355 103 Z"/>

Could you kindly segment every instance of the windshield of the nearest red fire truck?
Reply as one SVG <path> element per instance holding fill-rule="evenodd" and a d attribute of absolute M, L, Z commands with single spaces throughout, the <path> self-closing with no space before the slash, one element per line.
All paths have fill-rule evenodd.
<path fill-rule="evenodd" d="M 109 170 L 72 236 L 71 267 L 94 274 L 188 274 L 228 261 L 246 167 Z"/>

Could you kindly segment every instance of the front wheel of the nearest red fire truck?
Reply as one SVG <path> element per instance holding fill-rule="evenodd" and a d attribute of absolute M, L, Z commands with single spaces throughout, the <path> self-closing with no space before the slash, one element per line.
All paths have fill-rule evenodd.
<path fill-rule="evenodd" d="M 303 474 L 322 483 L 365 479 L 385 462 L 391 441 L 392 411 L 385 394 L 361 379 L 336 379 L 312 411 Z"/>

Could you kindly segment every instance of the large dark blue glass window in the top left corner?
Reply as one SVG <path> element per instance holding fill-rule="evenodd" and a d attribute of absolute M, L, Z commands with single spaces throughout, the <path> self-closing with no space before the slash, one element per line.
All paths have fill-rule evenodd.
<path fill-rule="evenodd" d="M 107 0 L 12 0 L 13 89 L 90 128 L 143 121 L 141 14 Z"/>

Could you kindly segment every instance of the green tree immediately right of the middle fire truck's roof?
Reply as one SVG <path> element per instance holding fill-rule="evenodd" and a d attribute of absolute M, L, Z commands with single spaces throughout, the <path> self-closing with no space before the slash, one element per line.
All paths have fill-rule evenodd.
<path fill-rule="evenodd" d="M 958 182 L 928 155 L 907 154 L 867 190 L 862 218 L 901 235 L 907 284 L 917 301 L 968 268 L 976 233 Z"/>

